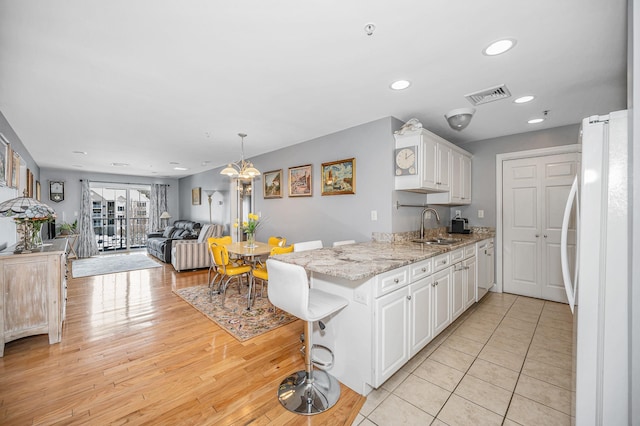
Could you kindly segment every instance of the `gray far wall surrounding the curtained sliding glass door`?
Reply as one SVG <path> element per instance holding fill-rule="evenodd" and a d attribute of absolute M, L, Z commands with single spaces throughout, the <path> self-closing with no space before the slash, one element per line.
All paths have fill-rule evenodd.
<path fill-rule="evenodd" d="M 56 211 L 56 224 L 60 225 L 62 222 L 73 222 L 78 218 L 80 212 L 80 196 L 81 196 L 81 184 L 80 179 L 89 179 L 90 181 L 100 182 L 114 182 L 114 183 L 164 183 L 169 184 L 169 190 L 167 193 L 167 199 L 169 202 L 169 214 L 172 216 L 172 220 L 178 218 L 178 180 L 177 179 L 162 179 L 162 178 L 150 178 L 143 176 L 125 176 L 125 175 L 112 175 L 104 173 L 86 173 L 75 170 L 62 170 L 62 169 L 50 169 L 43 167 L 40 170 L 40 176 L 42 177 L 42 202 L 52 207 Z M 64 200 L 59 203 L 54 203 L 49 200 L 49 181 L 50 180 L 62 180 L 64 184 Z"/>

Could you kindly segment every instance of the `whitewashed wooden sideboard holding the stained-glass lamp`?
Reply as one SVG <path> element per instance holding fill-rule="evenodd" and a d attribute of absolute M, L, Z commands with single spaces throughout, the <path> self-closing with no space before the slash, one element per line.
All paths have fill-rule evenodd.
<path fill-rule="evenodd" d="M 8 249 L 9 250 L 9 249 Z M 0 253 L 0 357 L 4 344 L 36 334 L 62 338 L 67 293 L 67 240 L 33 253 Z"/>

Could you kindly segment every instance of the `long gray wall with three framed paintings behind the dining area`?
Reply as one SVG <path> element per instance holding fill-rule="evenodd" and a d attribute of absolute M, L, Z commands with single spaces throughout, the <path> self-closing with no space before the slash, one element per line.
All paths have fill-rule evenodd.
<path fill-rule="evenodd" d="M 419 228 L 419 209 L 395 208 L 395 201 L 422 204 L 425 195 L 394 191 L 393 132 L 403 123 L 386 117 L 371 123 L 322 136 L 295 146 L 280 149 L 251 161 L 260 171 L 282 169 L 283 197 L 264 199 L 262 179 L 255 181 L 255 211 L 264 218 L 258 239 L 283 235 L 290 243 L 320 239 L 325 246 L 333 241 L 354 239 L 369 241 L 373 232 L 402 232 Z M 346 158 L 356 159 L 356 193 L 354 195 L 322 196 L 320 169 L 322 163 Z M 288 168 L 312 164 L 313 196 L 288 196 Z M 181 214 L 185 218 L 208 221 L 208 205 L 203 196 L 201 206 L 191 206 L 191 189 L 230 189 L 229 178 L 221 176 L 220 168 L 180 180 Z M 227 213 L 229 194 L 224 193 Z M 215 206 L 214 206 L 215 208 Z M 439 209 L 448 217 L 448 208 Z M 378 219 L 371 220 L 376 211 Z M 220 219 L 223 218 L 221 213 Z M 229 216 L 227 216 L 229 217 Z M 443 222 L 448 219 L 443 218 Z M 219 223 L 214 213 L 214 222 Z M 227 231 L 229 229 L 229 223 Z M 435 221 L 428 223 L 436 226 Z"/>

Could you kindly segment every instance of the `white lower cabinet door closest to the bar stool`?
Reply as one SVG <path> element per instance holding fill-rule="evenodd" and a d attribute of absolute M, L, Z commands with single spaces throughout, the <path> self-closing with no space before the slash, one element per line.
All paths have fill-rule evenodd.
<path fill-rule="evenodd" d="M 409 288 L 375 300 L 376 361 L 374 387 L 383 384 L 409 360 Z"/>

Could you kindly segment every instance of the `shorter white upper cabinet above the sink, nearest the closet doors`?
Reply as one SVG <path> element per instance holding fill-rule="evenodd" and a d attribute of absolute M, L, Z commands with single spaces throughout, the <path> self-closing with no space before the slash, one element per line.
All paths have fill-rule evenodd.
<path fill-rule="evenodd" d="M 471 204 L 471 155 L 459 148 L 451 150 L 449 191 L 427 195 L 429 204 Z"/>

